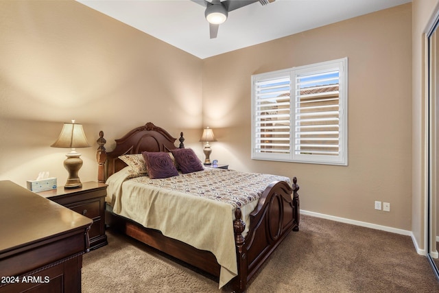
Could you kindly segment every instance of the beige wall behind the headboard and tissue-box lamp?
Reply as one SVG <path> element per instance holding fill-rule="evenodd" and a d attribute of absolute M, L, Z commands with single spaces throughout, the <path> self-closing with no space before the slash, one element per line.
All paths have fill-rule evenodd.
<path fill-rule="evenodd" d="M 75 1 L 0 1 L 0 180 L 39 171 L 64 185 L 62 122 L 84 124 L 83 182 L 96 180 L 96 139 L 152 121 L 198 143 L 202 60 Z"/>

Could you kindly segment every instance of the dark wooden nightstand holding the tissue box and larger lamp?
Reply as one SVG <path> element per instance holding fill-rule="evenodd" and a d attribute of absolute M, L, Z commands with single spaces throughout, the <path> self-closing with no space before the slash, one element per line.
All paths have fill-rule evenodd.
<path fill-rule="evenodd" d="M 88 231 L 90 249 L 96 249 L 108 244 L 107 236 L 105 235 L 106 184 L 90 181 L 82 183 L 81 188 L 64 189 L 63 186 L 59 186 L 57 189 L 42 191 L 36 194 L 93 220 L 90 231 Z"/>

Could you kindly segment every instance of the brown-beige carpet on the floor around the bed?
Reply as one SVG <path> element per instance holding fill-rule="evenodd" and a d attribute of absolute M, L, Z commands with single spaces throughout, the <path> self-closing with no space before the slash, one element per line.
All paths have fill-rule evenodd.
<path fill-rule="evenodd" d="M 108 246 L 84 255 L 82 292 L 230 292 L 215 279 L 107 231 Z M 412 239 L 302 216 L 248 285 L 262 292 L 439 292 Z"/>

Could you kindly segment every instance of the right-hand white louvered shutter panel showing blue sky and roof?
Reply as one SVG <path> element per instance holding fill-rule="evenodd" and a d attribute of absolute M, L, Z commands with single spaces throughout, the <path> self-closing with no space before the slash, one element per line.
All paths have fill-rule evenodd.
<path fill-rule="evenodd" d="M 338 69 L 296 75 L 296 155 L 340 155 Z"/>

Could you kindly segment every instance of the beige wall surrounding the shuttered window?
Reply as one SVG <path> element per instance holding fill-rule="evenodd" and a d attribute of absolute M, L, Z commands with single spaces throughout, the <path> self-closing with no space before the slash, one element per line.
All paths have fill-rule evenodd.
<path fill-rule="evenodd" d="M 348 57 L 348 166 L 250 159 L 250 75 Z M 411 3 L 204 60 L 211 159 L 297 176 L 301 209 L 411 230 Z M 374 201 L 390 202 L 376 211 Z"/>

